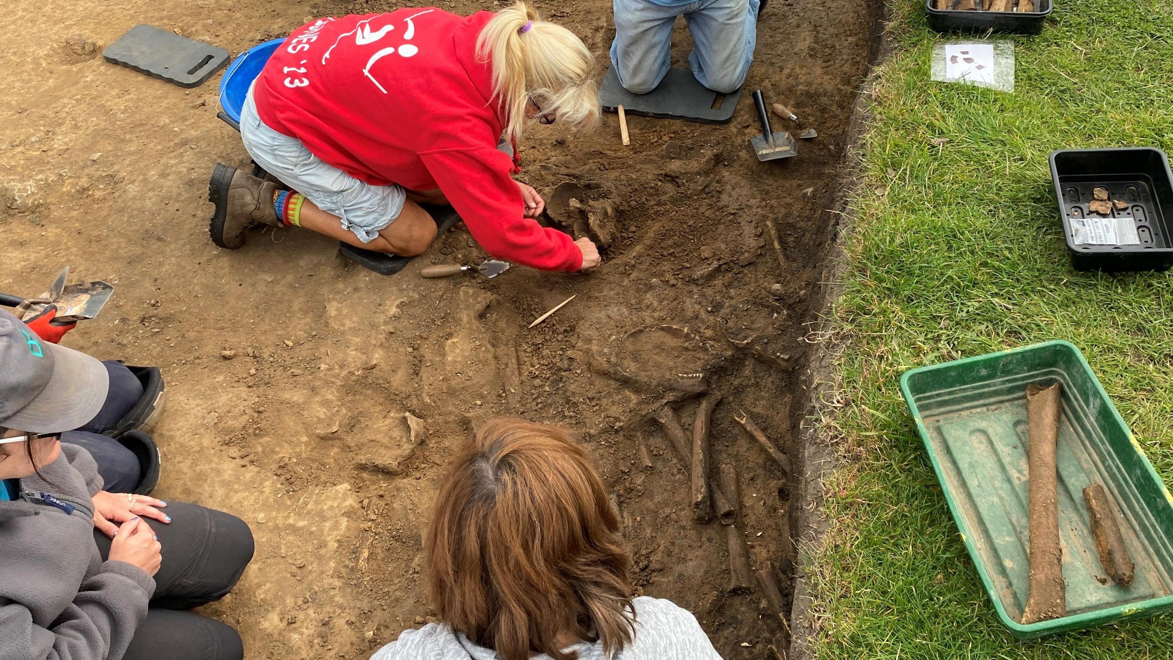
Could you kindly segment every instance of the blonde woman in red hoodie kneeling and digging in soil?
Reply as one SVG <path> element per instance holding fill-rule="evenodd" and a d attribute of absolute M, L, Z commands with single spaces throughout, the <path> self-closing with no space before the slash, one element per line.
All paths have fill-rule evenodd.
<path fill-rule="evenodd" d="M 240 136 L 292 190 L 217 163 L 212 241 L 239 248 L 257 224 L 298 225 L 414 256 L 450 203 L 490 255 L 543 270 L 598 264 L 589 238 L 543 228 L 514 181 L 527 119 L 598 121 L 590 50 L 524 4 L 459 16 L 429 7 L 319 19 L 290 35 L 249 90 Z M 515 149 L 516 151 L 516 149 Z"/>

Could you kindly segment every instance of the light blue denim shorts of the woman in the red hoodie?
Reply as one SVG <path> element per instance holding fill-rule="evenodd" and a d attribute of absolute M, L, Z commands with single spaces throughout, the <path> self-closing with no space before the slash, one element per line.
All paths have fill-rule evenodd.
<path fill-rule="evenodd" d="M 398 184 L 372 186 L 310 153 L 296 137 L 265 126 L 257 116 L 252 88 L 240 108 L 240 137 L 252 160 L 319 209 L 337 215 L 343 229 L 369 243 L 399 217 L 407 193 Z"/>

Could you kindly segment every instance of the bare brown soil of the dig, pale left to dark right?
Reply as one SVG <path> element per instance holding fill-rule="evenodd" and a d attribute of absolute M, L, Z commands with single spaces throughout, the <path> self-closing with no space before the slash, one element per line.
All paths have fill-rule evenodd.
<path fill-rule="evenodd" d="M 610 1 L 537 5 L 605 58 Z M 748 412 L 799 465 L 789 402 L 802 398 L 804 322 L 818 311 L 808 301 L 835 222 L 822 209 L 874 2 L 769 4 L 747 88 L 818 128 L 793 161 L 753 157 L 748 94 L 727 126 L 629 115 L 630 147 L 613 115 L 590 135 L 535 126 L 523 179 L 544 193 L 576 181 L 613 209 L 594 207 L 612 236 L 590 275 L 420 278 L 420 265 L 482 256 L 461 228 L 391 278 L 306 231 L 215 248 L 208 176 L 217 161 L 248 163 L 215 116 L 218 76 L 185 90 L 107 63 L 101 49 L 148 22 L 236 54 L 308 16 L 395 6 L 67 0 L 46 15 L 42 2 L 7 2 L 0 290 L 39 294 L 66 264 L 72 281 L 115 284 L 101 317 L 66 343 L 163 368 L 158 494 L 233 512 L 257 538 L 235 593 L 205 608 L 240 631 L 249 658 L 366 658 L 427 620 L 420 531 L 433 484 L 472 426 L 506 413 L 565 424 L 590 447 L 643 593 L 693 611 L 725 658 L 766 656 L 782 622 L 760 591 L 730 592 L 726 532 L 693 521 L 687 471 L 651 413 L 672 400 L 680 419 L 694 417 L 687 375 L 724 395 L 712 463 L 737 465 L 751 565 L 779 566 L 788 599 L 792 484 L 733 415 Z M 690 40 L 677 27 L 679 63 Z"/>

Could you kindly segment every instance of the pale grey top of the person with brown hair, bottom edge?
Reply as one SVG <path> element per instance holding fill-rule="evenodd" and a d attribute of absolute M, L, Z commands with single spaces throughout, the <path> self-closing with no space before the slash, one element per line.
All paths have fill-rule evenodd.
<path fill-rule="evenodd" d="M 611 660 L 721 660 L 700 629 L 697 618 L 671 600 L 639 597 L 636 608 L 636 634 L 631 645 Z M 603 645 L 579 641 L 563 651 L 577 651 L 578 660 L 606 660 Z M 491 648 L 477 646 L 448 626 L 428 624 L 420 629 L 404 631 L 399 639 L 380 648 L 371 660 L 497 660 Z M 550 660 L 547 654 L 530 660 Z"/>

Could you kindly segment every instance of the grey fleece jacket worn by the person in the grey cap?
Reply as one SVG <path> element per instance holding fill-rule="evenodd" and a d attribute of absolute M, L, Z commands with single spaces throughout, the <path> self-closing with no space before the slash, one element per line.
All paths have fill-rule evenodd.
<path fill-rule="evenodd" d="M 62 444 L 41 474 L 0 501 L 0 660 L 121 660 L 155 580 L 102 561 L 90 499 L 102 478 L 86 450 Z"/>

